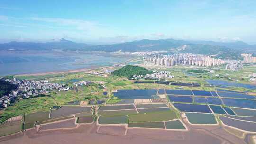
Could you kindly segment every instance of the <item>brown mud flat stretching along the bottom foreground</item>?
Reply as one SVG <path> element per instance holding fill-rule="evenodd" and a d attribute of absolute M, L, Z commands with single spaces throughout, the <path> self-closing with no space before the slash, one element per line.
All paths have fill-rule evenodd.
<path fill-rule="evenodd" d="M 189 131 L 128 129 L 125 136 L 99 134 L 97 129 L 95 123 L 80 125 L 76 129 L 39 132 L 32 129 L 1 137 L 0 144 L 245 144 L 243 140 L 228 134 L 220 126 L 189 126 Z M 112 127 L 106 126 L 101 132 L 112 130 Z M 113 131 L 115 133 L 116 129 Z"/>

